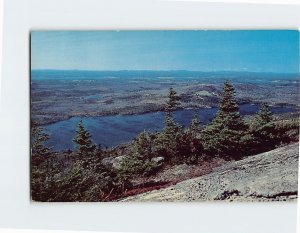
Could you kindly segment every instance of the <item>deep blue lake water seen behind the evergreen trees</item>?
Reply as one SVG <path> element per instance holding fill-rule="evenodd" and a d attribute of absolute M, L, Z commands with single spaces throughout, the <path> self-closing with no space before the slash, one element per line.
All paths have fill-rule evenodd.
<path fill-rule="evenodd" d="M 258 105 L 240 105 L 242 115 L 255 114 L 259 109 Z M 275 114 L 293 112 L 292 107 L 271 107 Z M 210 122 L 217 112 L 217 108 L 185 109 L 174 113 L 176 122 L 187 127 L 193 115 L 198 114 L 203 124 Z M 46 133 L 50 134 L 48 145 L 53 146 L 56 151 L 74 149 L 72 139 L 76 135 L 76 126 L 80 117 L 72 117 L 68 120 L 45 125 Z M 103 147 L 113 147 L 134 139 L 140 132 L 161 131 L 164 126 L 164 113 L 154 112 L 139 115 L 115 115 L 102 117 L 83 117 L 86 129 L 92 134 L 93 141 Z"/>

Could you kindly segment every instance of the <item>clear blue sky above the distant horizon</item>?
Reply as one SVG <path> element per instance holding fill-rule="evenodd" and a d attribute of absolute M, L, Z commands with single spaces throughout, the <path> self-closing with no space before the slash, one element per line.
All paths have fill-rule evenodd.
<path fill-rule="evenodd" d="M 299 32 L 33 31 L 31 67 L 294 73 Z"/>

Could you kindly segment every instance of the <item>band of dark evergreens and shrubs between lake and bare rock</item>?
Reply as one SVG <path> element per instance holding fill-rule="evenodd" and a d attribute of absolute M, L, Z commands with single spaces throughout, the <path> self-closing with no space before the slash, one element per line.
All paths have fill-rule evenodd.
<path fill-rule="evenodd" d="M 81 120 L 73 139 L 76 150 L 55 152 L 46 146 L 51 135 L 32 122 L 32 200 L 118 200 L 136 189 L 137 180 L 142 180 L 141 187 L 143 179 L 166 167 L 240 160 L 298 141 L 299 120 L 277 119 L 266 103 L 256 115 L 243 118 L 229 81 L 224 82 L 216 116 L 207 125 L 196 114 L 187 128 L 175 122 L 178 105 L 179 96 L 170 88 L 161 132 L 144 131 L 128 144 L 107 149 L 93 142 Z M 116 157 L 121 157 L 118 166 L 107 163 Z"/>

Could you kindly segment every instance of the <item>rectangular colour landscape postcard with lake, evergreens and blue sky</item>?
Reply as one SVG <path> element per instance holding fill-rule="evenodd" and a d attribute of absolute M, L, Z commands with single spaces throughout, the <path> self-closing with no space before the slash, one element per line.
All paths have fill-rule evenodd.
<path fill-rule="evenodd" d="M 31 198 L 297 199 L 299 31 L 31 32 Z"/>

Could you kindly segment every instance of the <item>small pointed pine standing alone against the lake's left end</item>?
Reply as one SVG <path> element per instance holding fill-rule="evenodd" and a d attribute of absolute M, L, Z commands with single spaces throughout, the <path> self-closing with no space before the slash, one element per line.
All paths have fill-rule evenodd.
<path fill-rule="evenodd" d="M 82 120 L 77 125 L 77 135 L 73 141 L 77 144 L 78 155 L 87 156 L 93 155 L 96 149 L 96 145 L 92 143 L 91 134 L 84 128 Z"/>

